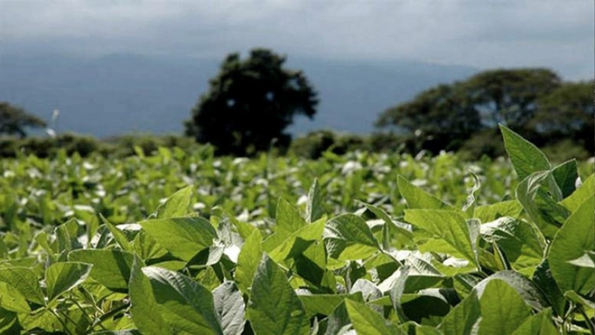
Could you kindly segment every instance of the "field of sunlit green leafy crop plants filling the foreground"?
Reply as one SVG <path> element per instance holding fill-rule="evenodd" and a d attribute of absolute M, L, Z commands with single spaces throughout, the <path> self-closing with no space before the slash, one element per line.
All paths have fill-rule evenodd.
<path fill-rule="evenodd" d="M 422 159 L 412 157 L 399 157 L 402 166 L 391 175 L 375 165 L 380 157 L 345 162 L 327 156 L 300 166 L 320 169 L 319 178 L 310 179 L 289 178 L 293 167 L 282 170 L 286 176 L 275 174 L 269 161 L 267 177 L 259 181 L 266 187 L 254 199 L 249 190 L 234 193 L 238 185 L 254 185 L 249 184 L 249 177 L 257 176 L 249 171 L 254 166 L 234 161 L 210 170 L 210 179 L 200 175 L 197 184 L 232 185 L 218 187 L 240 208 L 223 200 L 198 205 L 212 193 L 186 186 L 162 201 L 145 200 L 153 210 L 133 212 L 142 216 L 134 220 L 123 209 L 115 212 L 137 204 L 123 190 L 140 198 L 144 192 L 179 188 L 167 180 L 176 180 L 172 175 L 183 174 L 176 169 L 185 165 L 175 167 L 171 152 L 126 163 L 123 171 L 143 178 L 132 185 L 95 180 L 94 167 L 84 166 L 88 161 L 75 164 L 77 173 L 89 174 L 80 184 L 67 179 L 71 198 L 62 195 L 62 181 L 35 179 L 38 189 L 28 192 L 41 193 L 45 203 L 28 207 L 30 198 L 14 202 L 6 195 L 0 202 L 6 225 L 0 241 L 0 332 L 593 332 L 595 176 L 579 173 L 576 161 L 552 166 L 512 130 L 502 127 L 502 134 L 518 181 L 503 176 L 492 185 L 480 172 L 493 172 L 476 166 L 479 175 L 469 173 L 467 191 L 451 198 L 443 197 L 441 188 L 456 193 L 460 181 L 453 179 L 463 176 L 448 155 L 432 162 L 432 169 L 441 171 L 436 180 Z M 44 169 L 49 164 L 32 161 L 21 165 Z M 152 169 L 143 170 L 142 164 L 160 166 L 154 173 L 161 177 L 149 176 Z M 318 164 L 343 176 L 342 188 L 334 191 L 331 178 L 321 173 L 328 166 Z M 370 165 L 363 169 L 363 164 Z M 18 166 L 17 172 L 4 171 L 7 179 L 8 172 L 35 175 L 32 166 L 24 172 Z M 355 178 L 358 174 L 363 175 Z M 428 188 L 418 174 L 442 185 Z M 510 170 L 506 174 L 514 176 Z M 388 183 L 387 176 L 394 189 L 351 193 L 361 201 L 346 205 L 353 203 L 343 198 L 350 188 L 368 191 L 369 183 Z M 92 182 L 105 188 L 98 200 L 85 198 Z M 309 187 L 292 198 L 297 190 L 290 185 L 298 182 Z M 485 191 L 503 182 L 512 188 L 507 195 Z M 154 189 L 135 191 L 142 183 Z M 108 191 L 114 198 L 107 198 Z M 267 193 L 272 191 L 282 196 L 273 200 Z M 118 203 L 118 192 L 126 203 Z M 89 203 L 84 207 L 79 200 Z M 248 213 L 239 214 L 242 207 Z M 66 219 L 59 225 L 57 213 Z"/>

